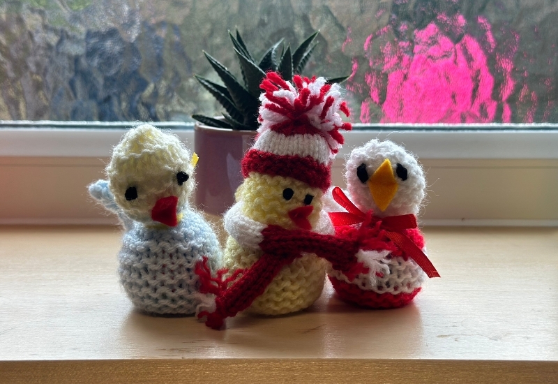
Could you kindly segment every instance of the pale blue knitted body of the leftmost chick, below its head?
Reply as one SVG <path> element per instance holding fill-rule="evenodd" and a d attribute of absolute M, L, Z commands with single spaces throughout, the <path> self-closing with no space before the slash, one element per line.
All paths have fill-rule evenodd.
<path fill-rule="evenodd" d="M 122 239 L 120 282 L 138 309 L 154 314 L 190 315 L 211 305 L 198 292 L 194 265 L 202 256 L 219 255 L 219 244 L 209 225 L 190 209 L 172 228 L 147 228 L 134 223 Z M 213 270 L 219 260 L 211 258 Z"/>

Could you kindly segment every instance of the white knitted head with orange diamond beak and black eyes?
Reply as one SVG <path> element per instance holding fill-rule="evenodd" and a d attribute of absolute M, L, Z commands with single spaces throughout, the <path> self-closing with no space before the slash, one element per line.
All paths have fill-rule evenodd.
<path fill-rule="evenodd" d="M 380 217 L 417 214 L 424 198 L 425 177 L 409 152 L 386 140 L 370 140 L 347 160 L 347 188 L 363 212 Z"/>

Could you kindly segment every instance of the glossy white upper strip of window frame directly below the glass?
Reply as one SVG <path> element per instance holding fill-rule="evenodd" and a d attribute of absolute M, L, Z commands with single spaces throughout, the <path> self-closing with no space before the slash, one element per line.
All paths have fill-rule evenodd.
<path fill-rule="evenodd" d="M 14 124 L 0 128 L 0 157 L 109 157 L 126 128 L 135 125 L 72 121 Z M 171 128 L 188 145 L 193 145 L 192 124 L 157 123 L 156 126 Z M 348 154 L 370 138 L 379 138 L 405 145 L 418 158 L 558 159 L 558 124 L 507 124 L 506 129 L 487 129 L 490 127 L 487 125 L 479 125 L 482 128 L 478 129 L 472 124 L 467 130 L 461 129 L 462 126 L 454 130 L 442 124 L 416 124 L 413 131 L 409 126 L 390 124 L 382 129 L 363 129 L 363 124 L 355 124 L 353 131 L 343 133 L 345 145 L 340 155 Z"/>

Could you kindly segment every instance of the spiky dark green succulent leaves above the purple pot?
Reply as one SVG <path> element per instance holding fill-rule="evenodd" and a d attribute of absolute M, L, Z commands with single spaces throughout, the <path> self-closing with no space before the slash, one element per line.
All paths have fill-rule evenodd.
<path fill-rule="evenodd" d="M 215 119 L 204 115 L 193 115 L 193 119 L 209 126 L 255 131 L 258 127 L 257 116 L 259 94 L 261 92 L 259 84 L 266 77 L 266 72 L 276 71 L 285 80 L 291 81 L 293 75 L 299 75 L 308 63 L 310 55 L 317 45 L 317 43 L 314 43 L 317 34 L 318 31 L 308 36 L 294 52 L 291 51 L 290 45 L 285 47 L 284 39 L 281 39 L 264 53 L 262 59 L 256 61 L 248 51 L 239 31 L 236 31 L 236 37 L 229 31 L 234 52 L 239 59 L 242 82 L 239 82 L 223 64 L 204 52 L 205 57 L 224 85 L 212 82 L 202 76 L 195 75 L 195 77 L 223 105 L 223 108 L 225 108 L 224 119 Z M 347 78 L 348 76 L 328 78 L 328 82 L 342 82 Z"/>

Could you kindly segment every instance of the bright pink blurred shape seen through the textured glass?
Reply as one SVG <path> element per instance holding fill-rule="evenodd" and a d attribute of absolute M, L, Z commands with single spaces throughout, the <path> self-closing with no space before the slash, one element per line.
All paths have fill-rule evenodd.
<path fill-rule="evenodd" d="M 512 71 L 518 35 L 510 31 L 505 42 L 497 42 L 488 20 L 479 16 L 476 24 L 483 33 L 476 38 L 467 34 L 467 21 L 459 14 L 438 15 L 425 28 L 407 34 L 412 40 L 399 40 L 391 26 L 368 36 L 364 50 L 370 68 L 364 81 L 369 93 L 361 105 L 361 121 L 510 122 L 508 97 L 516 85 Z M 398 28 L 398 35 L 405 36 L 409 27 L 401 23 Z M 353 73 L 358 69 L 354 61 Z M 357 82 L 356 77 L 349 79 L 347 89 L 361 93 Z M 526 89 L 522 95 L 536 108 L 534 93 Z M 527 111 L 526 121 L 532 120 L 533 111 Z"/>

